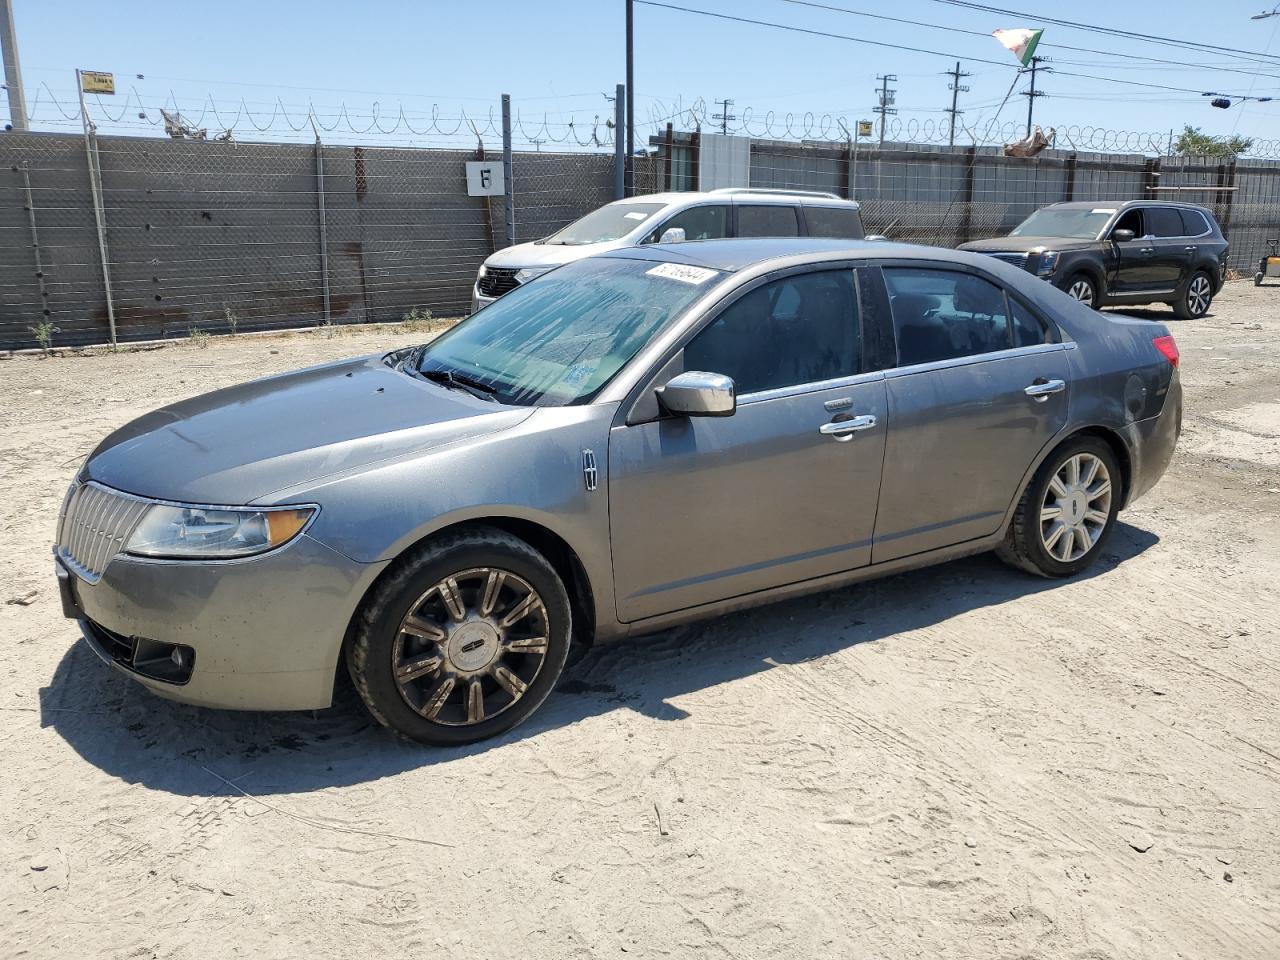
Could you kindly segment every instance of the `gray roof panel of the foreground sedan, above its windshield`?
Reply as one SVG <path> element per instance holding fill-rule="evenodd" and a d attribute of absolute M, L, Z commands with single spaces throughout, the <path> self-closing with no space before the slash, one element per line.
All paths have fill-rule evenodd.
<path fill-rule="evenodd" d="M 681 241 L 678 243 L 646 243 L 643 247 L 623 247 L 596 257 L 623 260 L 654 260 L 668 264 L 690 264 L 712 270 L 735 273 L 765 260 L 799 257 L 832 260 L 837 257 L 909 257 L 918 259 L 927 252 L 928 259 L 966 261 L 966 255 L 942 247 L 922 247 L 914 243 L 887 243 L 884 241 L 826 239 L 817 237 L 740 237 L 735 239 Z"/>

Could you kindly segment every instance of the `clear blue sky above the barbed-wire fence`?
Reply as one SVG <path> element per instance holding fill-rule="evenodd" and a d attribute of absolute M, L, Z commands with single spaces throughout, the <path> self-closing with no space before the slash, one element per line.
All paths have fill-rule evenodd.
<path fill-rule="evenodd" d="M 750 109 L 759 125 L 772 110 L 818 116 L 840 114 L 870 118 L 876 74 L 896 73 L 901 118 L 941 122 L 950 93 L 948 69 L 955 58 L 974 76 L 963 95 L 965 119 L 989 119 L 1014 79 L 1014 72 L 978 59 L 1014 64 L 987 36 L 854 17 L 835 10 L 799 6 L 783 0 L 671 0 L 736 17 L 786 23 L 814 31 L 844 33 L 886 44 L 928 47 L 952 55 L 888 50 L 819 36 L 783 32 L 745 23 L 717 20 L 657 6 L 636 6 L 637 116 L 669 114 L 678 102 L 732 97 L 732 111 Z M 1203 0 L 1165 0 L 1153 18 L 1151 3 L 1076 0 L 991 0 L 997 6 L 1053 15 L 1135 32 L 1155 32 L 1249 51 L 1274 52 L 1271 65 L 1240 56 L 1193 52 L 1132 38 L 1102 36 L 1043 24 L 1034 17 L 989 14 L 937 0 L 823 0 L 833 6 L 899 17 L 920 23 L 988 33 L 998 27 L 1044 26 L 1041 52 L 1055 61 L 1057 76 L 1041 78 L 1050 93 L 1037 102 L 1037 122 L 1046 127 L 1101 125 L 1130 131 L 1167 131 L 1184 123 L 1208 133 L 1233 131 L 1271 140 L 1280 137 L 1280 100 L 1272 104 L 1212 109 L 1199 91 L 1280 96 L 1280 17 L 1252 20 L 1265 0 L 1207 4 Z M 545 115 L 550 138 L 567 133 L 575 120 L 579 136 L 589 136 L 591 120 L 612 108 L 602 92 L 623 79 L 622 0 L 472 0 L 471 3 L 329 3 L 326 0 L 219 0 L 214 4 L 179 0 L 13 0 L 27 87 L 28 109 L 37 128 L 78 129 L 60 113 L 74 110 L 73 69 L 111 70 L 119 96 L 91 100 L 104 131 L 156 132 L 137 118 L 138 104 L 154 120 L 155 108 L 177 101 L 183 114 L 201 119 L 215 132 L 218 118 L 205 110 L 209 99 L 223 123 L 237 116 L 243 99 L 260 125 L 253 132 L 241 114 L 237 137 L 275 138 L 288 124 L 306 124 L 314 104 L 338 132 L 334 142 L 424 142 L 404 127 L 394 133 L 357 136 L 339 119 L 346 105 L 349 125 L 370 123 L 379 104 L 381 125 L 393 129 L 403 109 L 408 122 L 425 129 L 433 110 L 449 131 L 465 110 L 484 116 L 497 110 L 499 93 L 512 93 L 529 136 Z M 1270 6 L 1271 0 L 1266 0 Z M 1115 51 L 1119 56 L 1069 51 L 1061 45 Z M 1133 56 L 1172 63 L 1149 63 Z M 1210 65 L 1193 69 L 1188 64 Z M 1235 70 L 1235 72 L 1231 72 Z M 1125 86 L 1101 79 L 1068 77 L 1091 74 L 1140 81 L 1193 92 Z M 1263 76 L 1254 76 L 1261 73 Z M 142 74 L 145 79 L 134 79 Z M 129 93 L 136 87 L 137 99 Z M 1023 88 L 1020 86 L 1019 88 Z M 288 116 L 273 119 L 275 101 Z M 1027 101 L 1012 96 L 1000 119 L 1023 120 Z M 709 108 L 708 113 L 718 108 Z M 641 140 L 649 128 L 641 129 Z M 310 137 L 294 133 L 293 137 Z M 443 142 L 474 142 L 462 132 Z"/>

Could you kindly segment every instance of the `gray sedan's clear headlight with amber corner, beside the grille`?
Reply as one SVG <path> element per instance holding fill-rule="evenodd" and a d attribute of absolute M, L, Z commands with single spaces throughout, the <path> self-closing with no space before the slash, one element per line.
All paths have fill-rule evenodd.
<path fill-rule="evenodd" d="M 307 525 L 315 507 L 225 509 L 157 503 L 125 544 L 140 557 L 225 559 L 283 547 Z"/>

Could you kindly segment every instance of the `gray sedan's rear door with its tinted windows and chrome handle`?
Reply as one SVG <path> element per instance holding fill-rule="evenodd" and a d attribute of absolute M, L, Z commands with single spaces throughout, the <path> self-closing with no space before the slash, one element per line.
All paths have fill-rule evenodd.
<path fill-rule="evenodd" d="M 997 532 L 1070 387 L 1056 332 L 989 276 L 920 261 L 882 273 L 897 366 L 873 563 Z"/>

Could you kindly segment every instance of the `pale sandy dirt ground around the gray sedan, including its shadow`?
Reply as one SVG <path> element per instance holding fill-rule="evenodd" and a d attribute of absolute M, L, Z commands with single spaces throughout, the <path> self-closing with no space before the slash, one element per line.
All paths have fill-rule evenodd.
<path fill-rule="evenodd" d="M 0 603 L 0 952 L 1280 956 L 1280 288 L 1174 329 L 1178 457 L 1091 575 L 978 557 L 593 650 L 460 750 L 349 690 L 159 700 L 49 553 L 114 426 L 422 334 L 0 360 L 0 600 L 38 591 Z"/>

